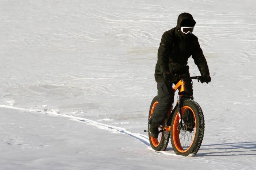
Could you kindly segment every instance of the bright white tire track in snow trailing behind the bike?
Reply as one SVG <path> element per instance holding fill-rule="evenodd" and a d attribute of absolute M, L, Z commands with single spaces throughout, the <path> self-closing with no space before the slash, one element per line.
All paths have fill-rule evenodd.
<path fill-rule="evenodd" d="M 0 108 L 8 108 L 8 109 L 28 111 L 28 112 L 38 112 L 38 113 L 49 114 L 49 115 L 54 115 L 54 116 L 68 117 L 68 118 L 70 118 L 70 120 L 74 120 L 74 121 L 78 121 L 78 122 L 81 122 L 81 123 L 90 124 L 90 125 L 93 125 L 93 126 L 95 126 L 97 128 L 100 128 L 100 129 L 103 129 L 103 130 L 108 130 L 108 131 L 110 131 L 112 133 L 129 135 L 129 136 L 131 136 L 131 137 L 133 137 L 135 139 L 140 140 L 144 144 L 146 144 L 148 146 L 147 148 L 149 150 L 153 150 L 150 147 L 148 136 L 142 135 L 142 134 L 132 133 L 130 131 L 127 131 L 125 128 L 121 128 L 121 127 L 117 127 L 117 126 L 112 126 L 112 125 L 107 125 L 107 124 L 99 123 L 97 121 L 86 119 L 86 118 L 83 118 L 83 117 L 76 117 L 76 116 L 71 116 L 71 115 L 62 115 L 60 113 L 57 113 L 54 110 L 52 110 L 52 111 L 49 111 L 49 110 L 48 111 L 42 111 L 41 109 L 26 109 L 26 108 L 19 108 L 19 107 L 14 107 L 14 106 L 8 106 L 8 105 L 4 105 L 4 104 L 0 104 Z M 153 150 L 153 151 L 155 151 L 155 150 Z M 155 151 L 155 152 L 158 153 L 158 154 L 179 156 L 179 155 L 176 155 L 176 154 L 168 153 L 167 151 Z"/>

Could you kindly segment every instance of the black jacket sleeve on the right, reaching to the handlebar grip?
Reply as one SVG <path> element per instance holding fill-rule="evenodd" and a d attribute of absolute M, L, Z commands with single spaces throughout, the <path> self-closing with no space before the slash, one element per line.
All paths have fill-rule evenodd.
<path fill-rule="evenodd" d="M 203 54 L 203 50 L 201 49 L 197 38 L 194 43 L 195 43 L 195 46 L 192 52 L 192 58 L 194 59 L 195 64 L 197 65 L 201 73 L 201 76 L 207 77 L 210 75 L 210 73 L 209 73 L 207 61 Z"/>

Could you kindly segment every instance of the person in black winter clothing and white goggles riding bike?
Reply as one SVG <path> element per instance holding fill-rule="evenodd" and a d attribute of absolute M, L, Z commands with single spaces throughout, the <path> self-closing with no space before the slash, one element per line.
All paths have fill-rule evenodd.
<path fill-rule="evenodd" d="M 188 58 L 192 56 L 201 73 L 201 82 L 210 82 L 211 77 L 203 51 L 197 37 L 192 34 L 196 22 L 189 13 L 178 16 L 177 26 L 162 35 L 155 66 L 155 81 L 159 103 L 154 109 L 154 115 L 149 120 L 149 132 L 153 138 L 158 138 L 158 127 L 162 125 L 173 101 L 172 89 L 174 74 L 187 74 L 189 76 Z M 190 99 L 193 99 L 192 82 L 186 87 Z"/>

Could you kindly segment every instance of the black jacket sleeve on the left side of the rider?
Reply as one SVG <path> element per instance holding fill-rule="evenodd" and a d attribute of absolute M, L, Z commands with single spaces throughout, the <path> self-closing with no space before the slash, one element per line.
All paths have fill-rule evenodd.
<path fill-rule="evenodd" d="M 168 65 L 170 51 L 172 51 L 172 43 L 170 42 L 168 35 L 164 33 L 157 53 L 157 63 L 159 64 L 161 73 L 169 72 Z"/>

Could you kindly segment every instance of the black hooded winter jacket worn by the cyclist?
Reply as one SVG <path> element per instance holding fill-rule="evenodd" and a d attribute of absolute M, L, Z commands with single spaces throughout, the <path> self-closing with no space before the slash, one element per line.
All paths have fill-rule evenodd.
<path fill-rule="evenodd" d="M 182 34 L 181 26 L 195 26 L 196 22 L 189 13 L 178 16 L 177 26 L 162 35 L 155 66 L 155 81 L 164 81 L 163 72 L 180 73 L 192 55 L 202 76 L 209 76 L 209 69 L 197 37 Z"/>

